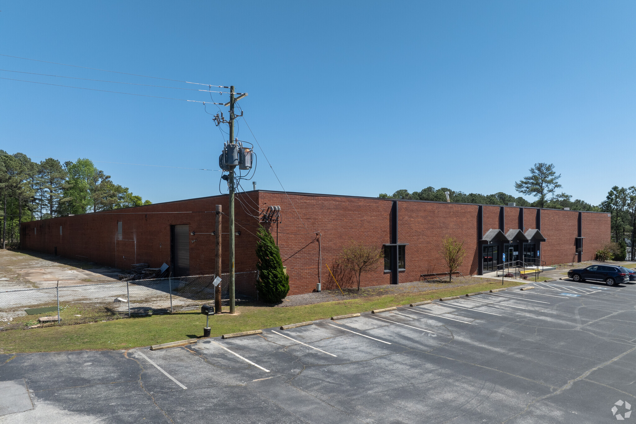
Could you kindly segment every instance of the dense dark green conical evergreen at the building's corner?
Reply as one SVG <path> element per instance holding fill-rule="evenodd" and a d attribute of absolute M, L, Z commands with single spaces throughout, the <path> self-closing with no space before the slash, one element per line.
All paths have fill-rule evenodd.
<path fill-rule="evenodd" d="M 258 229 L 258 238 L 256 268 L 259 273 L 256 289 L 262 301 L 278 303 L 289 292 L 289 276 L 283 271 L 280 250 L 269 231 L 261 226 Z"/>

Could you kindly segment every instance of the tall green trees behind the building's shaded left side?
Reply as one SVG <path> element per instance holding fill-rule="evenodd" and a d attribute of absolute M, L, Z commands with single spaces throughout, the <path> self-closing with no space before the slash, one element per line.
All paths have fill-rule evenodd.
<path fill-rule="evenodd" d="M 115 184 L 86 158 L 64 163 L 47 158 L 38 163 L 24 153 L 1 149 L 0 202 L 1 247 L 7 242 L 18 245 L 20 222 L 151 204 Z"/>

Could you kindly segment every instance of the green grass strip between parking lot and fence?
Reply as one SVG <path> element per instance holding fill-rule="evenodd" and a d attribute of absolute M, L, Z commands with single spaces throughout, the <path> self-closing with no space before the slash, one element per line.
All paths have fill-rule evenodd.
<path fill-rule="evenodd" d="M 484 280 L 480 284 L 464 285 L 451 289 L 364 297 L 305 306 L 287 306 L 285 308 L 239 306 L 235 315 L 223 313 L 210 317 L 210 327 L 212 328 L 212 337 L 214 337 L 230 332 L 277 327 L 329 318 L 333 315 L 364 312 L 521 284 L 522 282 L 504 282 L 502 285 L 501 281 Z M 224 310 L 227 309 L 224 307 Z M 188 311 L 171 315 L 153 315 L 152 317 L 127 318 L 89 324 L 3 331 L 0 332 L 0 353 L 128 349 L 201 337 L 204 326 L 204 315 L 198 311 Z"/>

